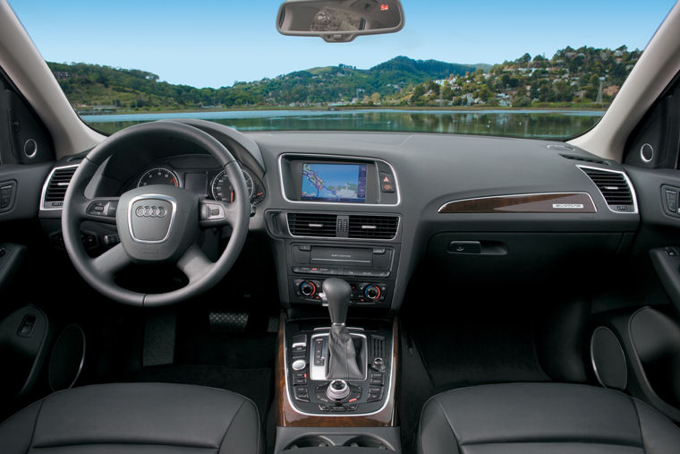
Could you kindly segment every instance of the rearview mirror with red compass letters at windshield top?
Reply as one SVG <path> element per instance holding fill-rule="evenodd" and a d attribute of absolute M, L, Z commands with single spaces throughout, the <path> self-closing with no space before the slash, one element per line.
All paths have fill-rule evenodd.
<path fill-rule="evenodd" d="M 288 0 L 276 16 L 283 35 L 317 36 L 330 43 L 404 28 L 399 0 Z"/>

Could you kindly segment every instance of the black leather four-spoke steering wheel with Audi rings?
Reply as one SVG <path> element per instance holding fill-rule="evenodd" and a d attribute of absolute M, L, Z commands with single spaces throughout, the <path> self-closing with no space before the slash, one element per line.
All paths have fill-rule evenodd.
<path fill-rule="evenodd" d="M 98 167 L 115 152 L 140 145 L 179 140 L 208 151 L 226 171 L 234 187 L 234 203 L 199 200 L 182 188 L 151 184 L 120 197 L 88 199 L 85 188 Z M 248 235 L 250 199 L 241 167 L 217 139 L 188 124 L 157 121 L 137 124 L 115 133 L 91 150 L 72 176 L 64 196 L 62 232 L 73 265 L 90 286 L 115 301 L 136 306 L 178 303 L 213 287 L 225 277 L 241 253 Z M 91 258 L 81 242 L 81 222 L 115 224 L 120 244 Z M 200 228 L 229 225 L 232 236 L 213 262 L 196 244 Z M 116 272 L 128 264 L 174 263 L 188 278 L 186 286 L 171 292 L 144 294 L 115 283 Z"/>

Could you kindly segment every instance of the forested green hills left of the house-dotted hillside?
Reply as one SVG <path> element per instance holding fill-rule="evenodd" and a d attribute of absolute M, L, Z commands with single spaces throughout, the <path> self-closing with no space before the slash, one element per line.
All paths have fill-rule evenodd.
<path fill-rule="evenodd" d="M 287 106 L 351 101 L 359 94 L 395 94 L 413 83 L 474 71 L 472 65 L 396 57 L 369 70 L 339 64 L 283 74 L 231 87 L 197 89 L 159 81 L 157 74 L 98 64 L 47 62 L 79 110 L 183 109 Z"/>

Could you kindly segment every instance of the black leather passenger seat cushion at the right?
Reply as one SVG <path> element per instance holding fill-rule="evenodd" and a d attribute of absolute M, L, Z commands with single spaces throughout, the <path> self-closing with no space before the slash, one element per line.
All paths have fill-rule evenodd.
<path fill-rule="evenodd" d="M 662 454 L 680 429 L 624 393 L 586 385 L 510 383 L 439 394 L 423 407 L 421 454 Z"/>

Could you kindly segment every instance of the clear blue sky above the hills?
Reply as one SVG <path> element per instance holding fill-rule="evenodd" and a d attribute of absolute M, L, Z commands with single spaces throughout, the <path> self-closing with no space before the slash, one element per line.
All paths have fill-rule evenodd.
<path fill-rule="evenodd" d="M 395 56 L 497 64 L 566 46 L 643 49 L 670 0 L 402 0 L 394 34 L 329 44 L 280 35 L 276 0 L 9 0 L 42 56 L 221 87 L 316 66 L 367 69 Z"/>

